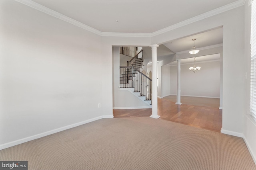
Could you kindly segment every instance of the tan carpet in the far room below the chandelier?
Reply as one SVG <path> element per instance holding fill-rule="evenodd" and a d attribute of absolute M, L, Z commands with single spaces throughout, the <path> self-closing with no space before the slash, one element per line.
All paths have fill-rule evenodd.
<path fill-rule="evenodd" d="M 176 96 L 166 96 L 164 99 L 170 100 L 176 103 Z M 199 98 L 199 97 L 189 97 L 180 96 L 180 102 L 187 105 L 204 106 L 204 107 L 220 107 L 220 99 L 216 98 Z"/>

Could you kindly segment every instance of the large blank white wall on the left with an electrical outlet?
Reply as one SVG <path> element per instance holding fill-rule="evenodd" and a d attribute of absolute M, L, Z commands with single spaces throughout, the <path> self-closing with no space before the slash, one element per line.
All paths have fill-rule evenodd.
<path fill-rule="evenodd" d="M 0 27 L 1 147 L 104 115 L 99 35 L 13 0 Z"/>

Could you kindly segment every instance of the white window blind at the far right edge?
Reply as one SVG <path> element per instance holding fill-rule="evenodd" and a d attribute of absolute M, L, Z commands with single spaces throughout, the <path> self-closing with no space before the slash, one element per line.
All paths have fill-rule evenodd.
<path fill-rule="evenodd" d="M 256 0 L 252 1 L 250 112 L 256 120 Z"/>

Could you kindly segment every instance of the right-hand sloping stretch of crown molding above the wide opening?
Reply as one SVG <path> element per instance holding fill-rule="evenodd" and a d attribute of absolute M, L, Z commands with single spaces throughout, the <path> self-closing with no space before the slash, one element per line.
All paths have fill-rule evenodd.
<path fill-rule="evenodd" d="M 181 21 L 179 23 L 171 25 L 170 27 L 166 27 L 166 28 L 160 29 L 158 31 L 155 31 L 155 32 L 151 33 L 151 36 L 154 37 L 156 35 L 159 35 L 159 34 L 162 34 L 162 33 L 166 33 L 166 32 L 171 31 L 173 29 L 176 29 L 176 28 L 179 28 L 179 27 L 183 27 L 183 26 L 188 25 L 190 23 L 194 23 L 196 21 L 200 21 L 200 20 L 203 20 L 205 18 L 208 18 L 208 17 L 214 16 L 214 15 L 220 14 L 222 12 L 226 12 L 228 10 L 232 10 L 232 9 L 237 8 L 239 6 L 243 6 L 245 4 L 245 1 L 246 0 L 238 0 L 238 1 L 233 2 L 231 4 L 227 4 L 225 6 L 217 8 L 215 10 L 211 10 L 209 12 L 201 14 L 199 16 L 195 16 L 195 17 L 190 18 L 188 20 Z"/>

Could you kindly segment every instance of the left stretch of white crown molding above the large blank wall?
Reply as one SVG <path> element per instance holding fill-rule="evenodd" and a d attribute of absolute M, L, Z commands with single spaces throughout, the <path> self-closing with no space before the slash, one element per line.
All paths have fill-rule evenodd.
<path fill-rule="evenodd" d="M 102 35 L 102 32 L 97 30 L 97 29 L 94 29 L 94 28 L 89 27 L 88 25 L 85 25 L 85 24 L 83 24 L 81 22 L 78 22 L 78 21 L 76 21 L 76 20 L 74 20 L 72 18 L 64 16 L 64 15 L 62 15 L 62 14 L 60 14 L 60 13 L 54 11 L 54 10 L 51 10 L 50 8 L 42 6 L 42 5 L 36 3 L 36 2 L 34 2 L 32 0 L 15 0 L 15 1 L 20 2 L 20 3 L 24 4 L 24 5 L 27 5 L 27 6 L 31 7 L 31 8 L 34 8 L 34 9 L 36 9 L 38 11 L 41 11 L 41 12 L 44 12 L 44 13 L 49 14 L 51 16 L 54 16 L 54 17 L 56 17 L 56 18 L 58 18 L 60 20 L 63 20 L 63 21 L 66 21 L 68 23 L 71 23 L 73 25 L 76 25 L 76 26 L 78 26 L 78 27 L 80 27 L 82 29 L 85 29 L 87 31 L 90 31 L 92 33 L 95 33 L 95 34 L 98 34 L 98 35 Z"/>

